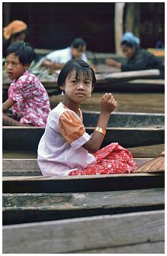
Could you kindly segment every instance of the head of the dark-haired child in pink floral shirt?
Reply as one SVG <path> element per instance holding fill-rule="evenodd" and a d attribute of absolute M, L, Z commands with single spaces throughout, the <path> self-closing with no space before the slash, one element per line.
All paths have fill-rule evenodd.
<path fill-rule="evenodd" d="M 11 44 L 5 53 L 5 69 L 8 78 L 17 79 L 31 66 L 34 60 L 34 50 L 30 44 L 16 42 Z"/>

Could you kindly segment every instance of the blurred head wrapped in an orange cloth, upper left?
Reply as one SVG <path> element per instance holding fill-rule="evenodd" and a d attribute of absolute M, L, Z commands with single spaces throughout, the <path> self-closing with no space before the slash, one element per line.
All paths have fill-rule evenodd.
<path fill-rule="evenodd" d="M 27 36 L 27 24 L 24 21 L 15 20 L 3 28 L 3 36 L 10 43 L 24 41 Z"/>

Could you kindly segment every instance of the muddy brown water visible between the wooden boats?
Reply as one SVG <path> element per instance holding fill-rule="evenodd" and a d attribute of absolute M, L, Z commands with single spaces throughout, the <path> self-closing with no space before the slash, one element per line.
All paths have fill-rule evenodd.
<path fill-rule="evenodd" d="M 101 96 L 104 93 L 93 92 L 92 97 L 87 99 L 82 105 L 82 110 L 99 111 Z M 165 112 L 165 96 L 163 93 L 114 93 L 117 100 L 117 112 Z M 63 100 L 63 96 L 51 96 L 50 102 L 52 109 Z M 129 148 L 133 157 L 157 157 L 164 151 L 165 145 L 153 145 L 147 147 Z M 12 152 L 4 151 L 3 158 L 37 158 L 34 152 Z"/>

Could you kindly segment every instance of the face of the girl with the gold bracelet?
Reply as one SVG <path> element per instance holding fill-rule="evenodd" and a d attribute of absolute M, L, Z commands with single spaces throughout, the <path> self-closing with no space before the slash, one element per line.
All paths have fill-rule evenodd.
<path fill-rule="evenodd" d="M 65 91 L 66 99 L 81 103 L 91 96 L 92 77 L 85 78 L 84 75 L 76 77 L 76 71 L 73 70 L 66 77 L 65 84 L 61 89 Z"/>

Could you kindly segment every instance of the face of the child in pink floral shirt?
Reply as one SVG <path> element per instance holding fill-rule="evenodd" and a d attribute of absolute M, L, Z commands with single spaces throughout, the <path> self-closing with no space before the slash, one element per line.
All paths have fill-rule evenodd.
<path fill-rule="evenodd" d="M 26 65 L 22 65 L 18 60 L 18 56 L 11 53 L 6 57 L 5 69 L 9 79 L 18 79 L 18 77 L 23 75 Z"/>

